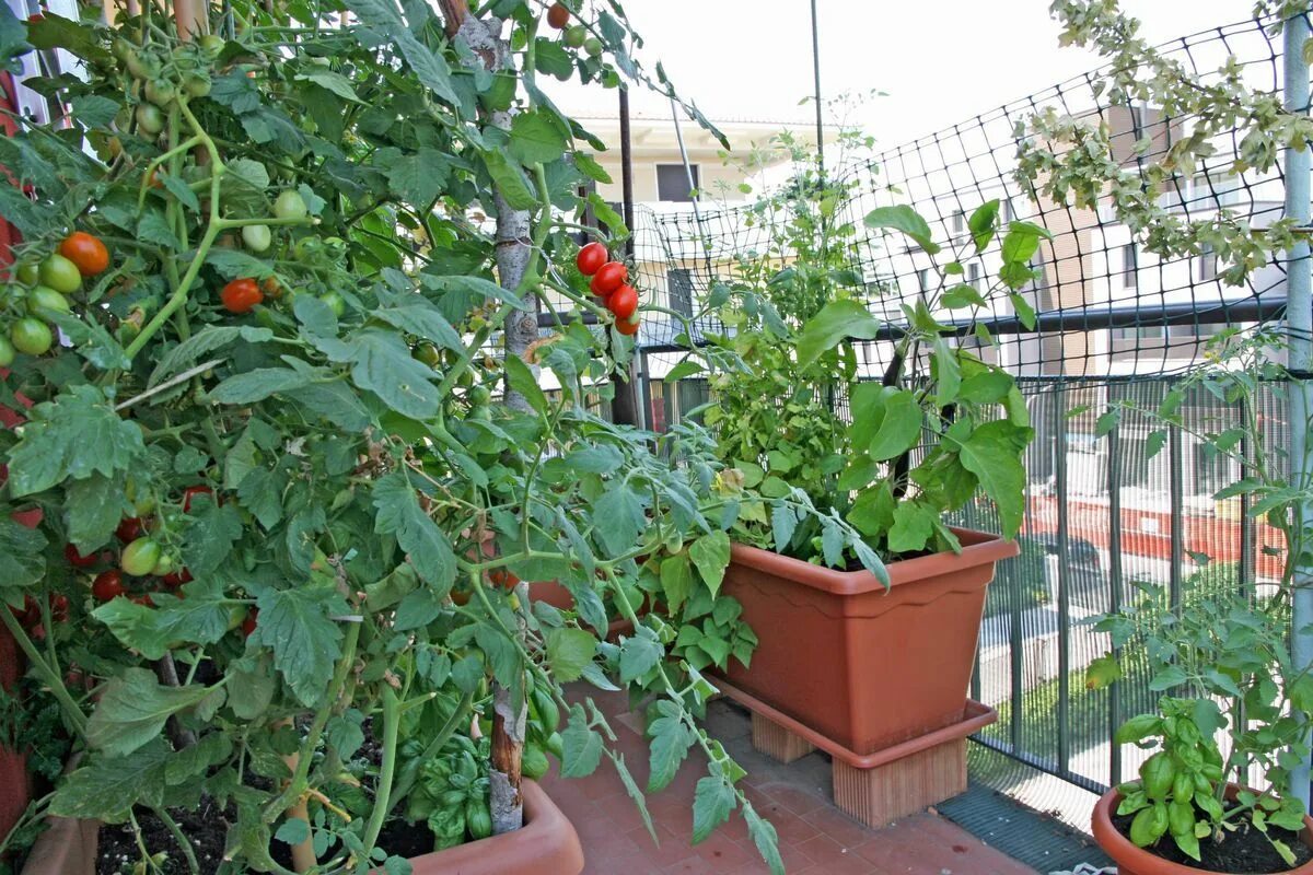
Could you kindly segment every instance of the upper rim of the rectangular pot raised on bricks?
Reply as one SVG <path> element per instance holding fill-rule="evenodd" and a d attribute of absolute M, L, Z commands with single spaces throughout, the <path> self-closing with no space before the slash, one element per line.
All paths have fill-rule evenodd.
<path fill-rule="evenodd" d="M 951 550 L 945 550 L 930 554 L 928 556 L 892 561 L 888 565 L 889 588 L 913 584 L 918 580 L 936 577 L 951 571 L 990 565 L 1022 552 L 1022 547 L 1015 540 L 1004 540 L 1001 535 L 987 531 L 957 527 L 951 527 L 951 531 L 962 542 L 961 552 L 955 554 Z M 800 585 L 835 596 L 886 592 L 880 579 L 865 568 L 860 571 L 838 571 L 738 542 L 730 544 L 730 561 L 786 577 Z"/>

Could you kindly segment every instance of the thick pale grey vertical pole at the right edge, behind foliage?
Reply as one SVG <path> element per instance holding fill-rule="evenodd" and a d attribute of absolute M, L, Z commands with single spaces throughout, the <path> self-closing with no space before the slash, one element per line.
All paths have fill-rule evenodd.
<path fill-rule="evenodd" d="M 1304 56 L 1304 43 L 1309 38 L 1309 21 L 1297 14 L 1285 22 L 1285 45 L 1281 62 L 1285 68 L 1283 89 L 1287 112 L 1309 112 L 1309 66 Z M 1309 151 L 1285 150 L 1285 215 L 1300 227 L 1309 224 Z M 1291 417 L 1291 479 L 1300 487 L 1309 481 L 1309 411 L 1313 409 L 1313 387 L 1308 373 L 1313 365 L 1313 275 L 1309 273 L 1309 244 L 1300 236 L 1291 247 L 1285 273 L 1285 325 L 1289 341 L 1289 367 L 1295 374 L 1289 392 Z M 1301 531 L 1308 525 L 1309 508 L 1295 509 L 1295 526 Z M 1291 561 L 1296 561 L 1291 556 Z M 1313 622 L 1313 569 L 1295 568 L 1295 617 L 1291 647 L 1295 668 L 1313 665 L 1313 635 L 1308 631 Z M 1308 761 L 1291 773 L 1291 792 L 1305 805 L 1309 803 Z"/>

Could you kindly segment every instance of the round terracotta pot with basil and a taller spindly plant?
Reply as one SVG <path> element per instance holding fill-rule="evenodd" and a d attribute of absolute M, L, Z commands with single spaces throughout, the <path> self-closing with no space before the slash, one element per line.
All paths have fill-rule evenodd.
<path fill-rule="evenodd" d="M 1090 665 L 1088 685 L 1163 693 L 1155 712 L 1113 739 L 1152 752 L 1137 779 L 1094 811 L 1094 837 L 1123 872 L 1313 872 L 1313 820 L 1291 792 L 1291 770 L 1310 752 L 1313 678 L 1287 645 L 1295 561 L 1308 548 L 1296 509 L 1309 491 L 1281 476 L 1280 438 L 1257 415 L 1258 392 L 1280 397 L 1292 384 L 1278 363 L 1284 346 L 1272 329 L 1228 329 L 1155 409 L 1137 411 L 1157 425 L 1150 447 L 1166 429 L 1184 429 L 1201 451 L 1230 459 L 1242 476 L 1215 497 L 1243 497 L 1285 546 L 1272 584 L 1209 586 L 1175 605 L 1162 586 L 1141 585 L 1134 603 L 1096 626 L 1115 652 Z M 1187 413 L 1196 396 L 1221 400 L 1225 417 Z M 1128 407 L 1109 409 L 1100 426 L 1116 428 Z"/>

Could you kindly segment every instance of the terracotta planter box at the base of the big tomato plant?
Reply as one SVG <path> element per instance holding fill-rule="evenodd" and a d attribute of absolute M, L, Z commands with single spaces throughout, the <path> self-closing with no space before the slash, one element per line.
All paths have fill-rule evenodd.
<path fill-rule="evenodd" d="M 412 857 L 414 875 L 579 875 L 583 849 L 570 820 L 532 781 L 524 782 L 524 828 L 435 854 Z M 95 875 L 96 834 L 91 820 L 51 817 L 32 849 L 22 875 Z"/>

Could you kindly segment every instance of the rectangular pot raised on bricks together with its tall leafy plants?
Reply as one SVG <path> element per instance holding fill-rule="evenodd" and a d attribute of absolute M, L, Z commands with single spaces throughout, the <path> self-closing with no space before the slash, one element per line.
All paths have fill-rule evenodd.
<path fill-rule="evenodd" d="M 872 211 L 868 230 L 897 232 L 889 245 L 941 264 L 937 283 L 886 319 L 873 312 L 880 293 L 851 269 L 856 227 L 831 215 L 856 182 L 827 180 L 802 157 L 798 178 L 751 210 L 768 245 L 713 289 L 730 332 L 672 376 L 705 370 L 713 404 L 702 417 L 734 487 L 818 510 L 743 514 L 733 529 L 725 593 L 759 644 L 723 677 L 813 744 L 863 757 L 964 720 L 985 588 L 1016 554 L 1007 539 L 1022 523 L 1032 432 L 1012 376 L 948 320 L 993 312 L 999 298 L 1033 317 L 1020 290 L 1048 232 L 1002 227 L 991 201 L 941 258 L 914 210 Z M 993 289 L 962 281 L 969 257 L 999 260 Z M 878 341 L 888 367 L 865 370 L 855 341 Z M 953 526 L 982 496 L 998 535 Z"/>

